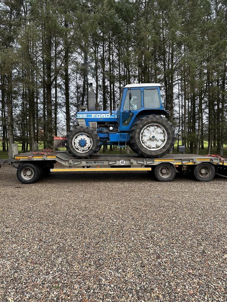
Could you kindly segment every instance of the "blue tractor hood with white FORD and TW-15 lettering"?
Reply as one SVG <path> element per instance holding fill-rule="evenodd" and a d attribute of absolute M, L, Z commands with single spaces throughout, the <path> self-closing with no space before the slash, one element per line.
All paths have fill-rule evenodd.
<path fill-rule="evenodd" d="M 89 126 L 89 122 L 116 122 L 117 111 L 112 111 L 110 115 L 109 111 L 80 111 L 77 113 L 77 120 L 79 125 Z"/>

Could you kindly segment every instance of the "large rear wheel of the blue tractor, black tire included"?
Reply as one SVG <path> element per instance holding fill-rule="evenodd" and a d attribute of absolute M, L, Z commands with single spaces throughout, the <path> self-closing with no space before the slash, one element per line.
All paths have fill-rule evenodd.
<path fill-rule="evenodd" d="M 159 146 L 149 148 L 142 140 L 142 132 L 146 130 L 147 127 L 158 127 L 162 133 L 158 132 L 158 135 L 163 136 L 163 142 L 161 138 L 153 135 L 153 138 L 149 138 L 149 142 L 160 143 Z M 156 130 L 153 130 L 156 131 Z M 143 132 L 144 133 L 144 132 Z M 150 135 L 150 134 L 149 134 Z M 157 135 L 157 136 L 158 136 Z M 173 125 L 165 117 L 160 115 L 146 115 L 134 124 L 131 130 L 130 142 L 132 149 L 135 153 L 139 154 L 145 158 L 155 158 L 162 157 L 172 150 L 176 140 L 175 129 Z M 147 143 L 147 142 L 146 142 Z"/>

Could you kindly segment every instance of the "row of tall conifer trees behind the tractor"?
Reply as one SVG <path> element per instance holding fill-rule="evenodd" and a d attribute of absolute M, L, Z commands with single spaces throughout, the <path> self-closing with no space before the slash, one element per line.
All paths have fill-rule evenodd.
<path fill-rule="evenodd" d="M 223 155 L 226 22 L 226 0 L 2 0 L 2 150 L 52 147 L 77 124 L 90 82 L 97 110 L 115 110 L 126 84 L 155 82 L 179 143 Z"/>

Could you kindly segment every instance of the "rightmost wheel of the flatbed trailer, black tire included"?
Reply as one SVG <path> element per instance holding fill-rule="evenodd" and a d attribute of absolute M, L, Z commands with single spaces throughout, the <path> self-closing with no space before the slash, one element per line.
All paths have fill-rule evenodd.
<path fill-rule="evenodd" d="M 210 182 L 215 175 L 215 166 L 210 162 L 195 165 L 194 176 L 199 182 Z"/>

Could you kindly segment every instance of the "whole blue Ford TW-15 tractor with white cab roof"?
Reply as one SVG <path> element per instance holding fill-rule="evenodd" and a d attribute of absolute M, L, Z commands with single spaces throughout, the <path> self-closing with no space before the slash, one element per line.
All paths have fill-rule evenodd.
<path fill-rule="evenodd" d="M 67 151 L 76 158 L 94 156 L 103 144 L 130 148 L 145 158 L 162 157 L 176 140 L 173 125 L 164 116 L 160 84 L 130 84 L 121 91 L 115 111 L 95 111 L 92 84 L 88 110 L 77 113 L 79 126 L 66 137 Z"/>

